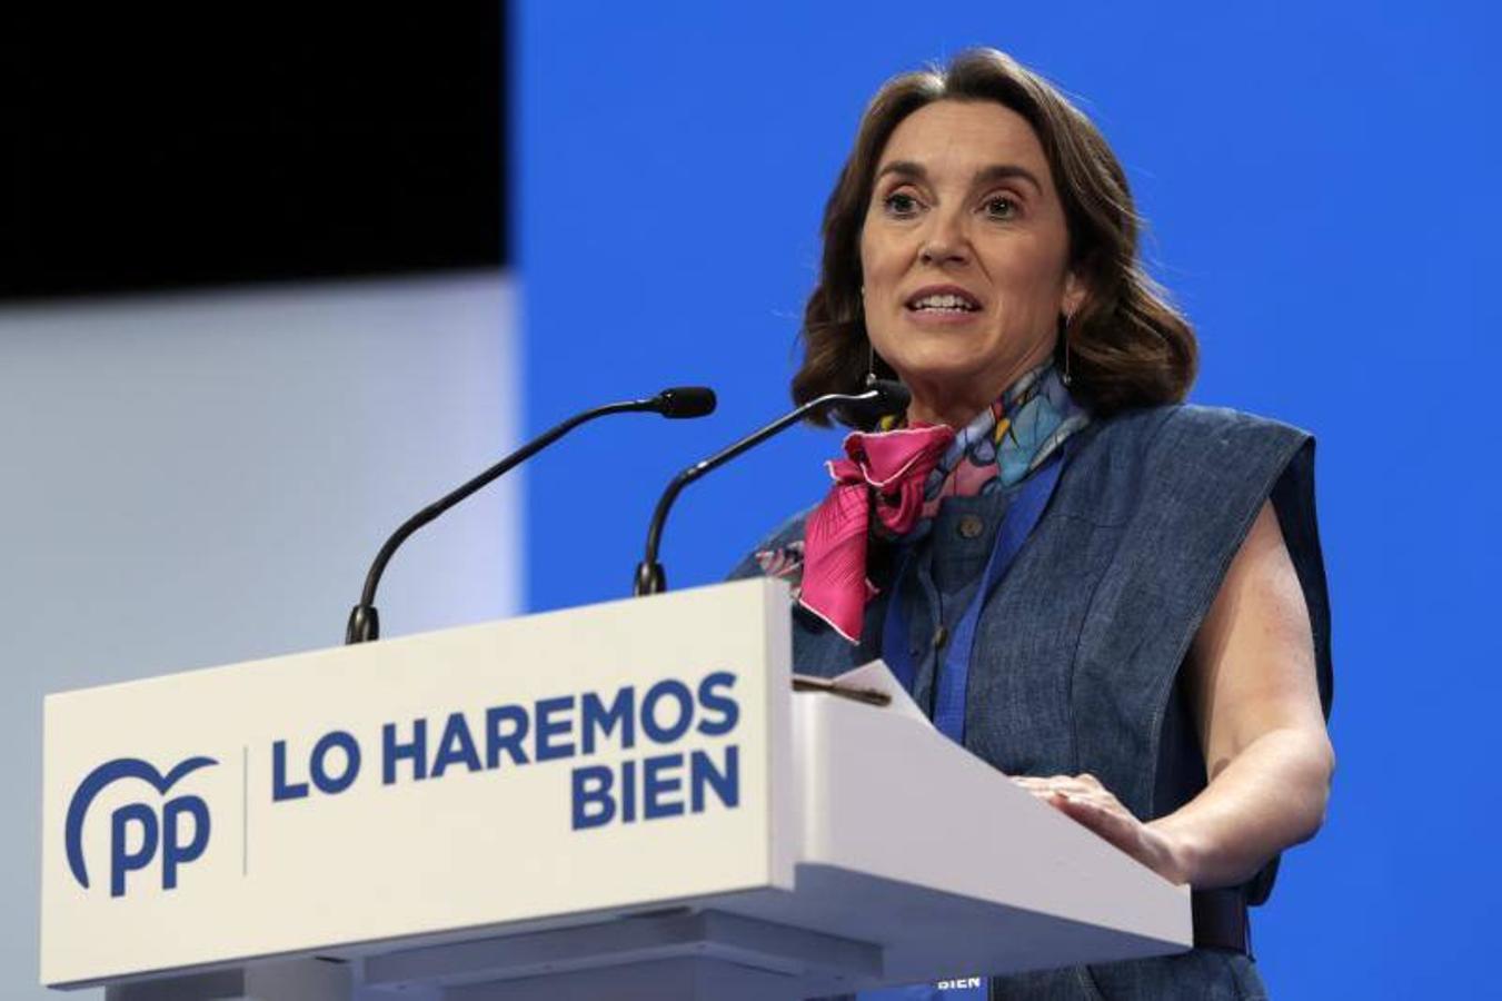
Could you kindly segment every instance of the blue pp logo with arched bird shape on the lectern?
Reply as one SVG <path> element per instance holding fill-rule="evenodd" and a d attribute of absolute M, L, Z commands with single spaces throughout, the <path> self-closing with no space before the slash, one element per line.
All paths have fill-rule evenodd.
<path fill-rule="evenodd" d="M 122 779 L 140 779 L 164 797 L 189 773 L 218 765 L 212 758 L 189 758 L 165 776 L 140 758 L 116 758 L 95 768 L 78 785 L 68 804 L 65 839 L 68 867 L 84 890 L 89 869 L 84 866 L 84 816 L 105 786 Z M 110 815 L 110 896 L 125 896 L 126 873 L 146 869 L 162 852 L 162 890 L 177 885 L 177 867 L 203 855 L 209 848 L 209 804 L 200 797 L 174 797 L 162 803 L 161 818 L 149 803 L 128 803 Z"/>

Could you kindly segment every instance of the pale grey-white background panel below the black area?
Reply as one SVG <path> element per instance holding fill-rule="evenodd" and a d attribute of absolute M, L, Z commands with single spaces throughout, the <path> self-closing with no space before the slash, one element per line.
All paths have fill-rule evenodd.
<path fill-rule="evenodd" d="M 470 272 L 0 311 L 0 996 L 48 996 L 42 694 L 341 642 L 386 534 L 514 446 L 512 305 Z M 517 612 L 520 502 L 419 532 L 385 633 Z"/>

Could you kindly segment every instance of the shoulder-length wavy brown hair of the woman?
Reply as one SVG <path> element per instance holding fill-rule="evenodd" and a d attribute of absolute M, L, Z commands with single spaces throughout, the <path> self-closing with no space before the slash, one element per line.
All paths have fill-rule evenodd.
<path fill-rule="evenodd" d="M 894 77 L 867 105 L 825 204 L 823 262 L 804 308 L 804 364 L 793 376 L 793 400 L 859 392 L 865 383 L 871 347 L 861 304 L 861 227 L 873 174 L 897 125 L 934 101 L 994 101 L 1023 116 L 1042 144 L 1069 231 L 1069 268 L 1086 289 L 1068 329 L 1060 323 L 1056 347 L 1060 367 L 1068 352 L 1075 398 L 1102 416 L 1184 400 L 1199 346 L 1137 257 L 1140 221 L 1120 162 L 1095 123 L 1053 84 L 993 48 Z M 877 374 L 894 377 L 880 358 L 876 365 Z"/>

